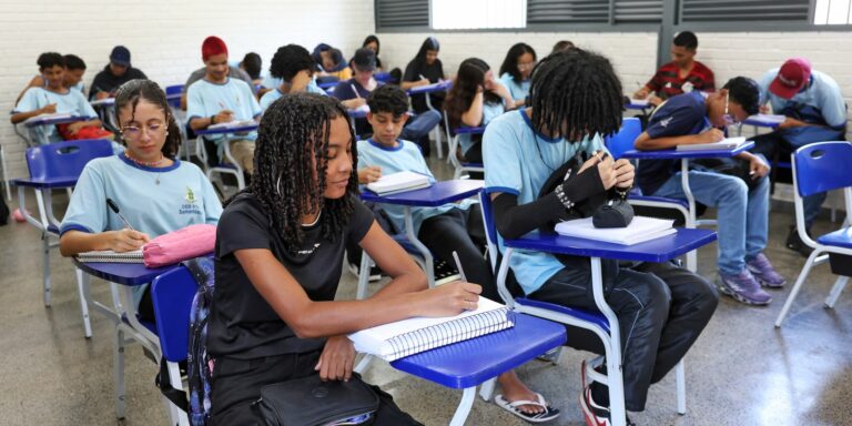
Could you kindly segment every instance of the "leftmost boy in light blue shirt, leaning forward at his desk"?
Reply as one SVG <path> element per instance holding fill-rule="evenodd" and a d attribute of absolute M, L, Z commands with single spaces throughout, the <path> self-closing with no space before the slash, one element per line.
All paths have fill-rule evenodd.
<path fill-rule="evenodd" d="M 39 140 L 57 142 L 77 139 L 112 139 L 113 134 L 103 130 L 101 120 L 83 94 L 65 87 L 64 58 L 55 52 L 39 57 L 39 71 L 47 82 L 41 88 L 29 88 L 12 110 L 12 124 L 18 124 L 41 114 L 71 114 L 89 118 L 69 124 L 39 125 L 33 132 L 41 132 Z"/>

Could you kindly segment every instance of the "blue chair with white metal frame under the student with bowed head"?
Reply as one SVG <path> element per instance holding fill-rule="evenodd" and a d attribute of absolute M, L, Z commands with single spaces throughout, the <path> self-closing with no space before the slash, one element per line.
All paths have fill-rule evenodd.
<path fill-rule="evenodd" d="M 486 236 L 488 240 L 488 252 L 491 257 L 493 265 L 497 271 L 497 290 L 500 296 L 508 306 L 511 306 L 516 312 L 538 316 L 541 318 L 550 320 L 565 325 L 580 327 L 595 333 L 601 341 L 606 356 L 597 356 L 586 362 L 586 371 L 584 372 L 586 377 L 590 381 L 606 384 L 609 388 L 610 409 L 612 412 L 612 425 L 625 426 L 626 423 L 626 409 L 625 409 L 625 386 L 623 377 L 621 375 L 621 338 L 618 317 L 615 312 L 609 307 L 604 297 L 604 284 L 600 270 L 600 255 L 595 253 L 587 253 L 591 262 L 591 285 L 592 293 L 595 295 L 595 303 L 598 306 L 599 312 L 590 312 L 579 308 L 572 308 L 568 306 L 557 305 L 554 303 L 535 301 L 526 297 L 515 297 L 507 288 L 506 280 L 509 272 L 509 260 L 511 258 L 513 248 L 506 247 L 505 256 L 501 260 L 499 248 L 497 247 L 497 225 L 494 220 L 494 212 L 491 210 L 490 195 L 483 191 L 479 195 L 483 211 L 483 221 L 485 223 Z M 698 230 L 697 230 L 698 231 Z M 709 231 L 698 231 L 700 235 L 690 239 L 691 245 L 699 246 L 709 243 L 714 240 Z M 711 234 L 712 237 L 708 236 Z M 547 244 L 545 244 L 547 245 Z M 607 374 L 601 374 L 595 371 L 596 367 L 607 363 Z M 686 374 L 683 368 L 683 359 L 674 367 L 676 381 L 677 381 L 677 408 L 679 414 L 686 414 Z M 484 389 L 486 390 L 486 389 Z M 490 390 L 490 389 L 487 389 Z M 483 398 L 488 398 L 490 395 L 483 395 Z"/>

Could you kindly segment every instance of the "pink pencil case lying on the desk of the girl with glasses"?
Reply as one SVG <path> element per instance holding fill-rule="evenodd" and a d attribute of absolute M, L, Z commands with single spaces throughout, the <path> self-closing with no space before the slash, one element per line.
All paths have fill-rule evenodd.
<path fill-rule="evenodd" d="M 151 240 L 142 246 L 148 267 L 160 267 L 213 252 L 216 245 L 215 225 L 189 225 Z"/>

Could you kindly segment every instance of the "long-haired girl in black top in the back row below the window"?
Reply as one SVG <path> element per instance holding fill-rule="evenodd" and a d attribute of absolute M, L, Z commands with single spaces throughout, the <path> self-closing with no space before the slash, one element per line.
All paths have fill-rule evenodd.
<path fill-rule="evenodd" d="M 440 59 L 438 59 L 439 50 L 440 44 L 438 43 L 438 39 L 428 37 L 423 41 L 420 50 L 417 51 L 417 55 L 405 67 L 403 81 L 399 83 L 399 85 L 403 87 L 403 90 L 409 90 L 420 85 L 429 85 L 444 80 L 444 64 L 440 62 Z M 442 105 L 444 104 L 445 94 L 443 92 L 435 92 L 429 93 L 428 95 L 432 100 L 432 106 L 440 111 Z M 429 108 L 426 105 L 426 94 L 417 93 L 412 95 L 412 108 L 414 109 L 414 112 L 418 114 L 428 111 Z M 428 152 L 425 154 L 428 155 Z"/>

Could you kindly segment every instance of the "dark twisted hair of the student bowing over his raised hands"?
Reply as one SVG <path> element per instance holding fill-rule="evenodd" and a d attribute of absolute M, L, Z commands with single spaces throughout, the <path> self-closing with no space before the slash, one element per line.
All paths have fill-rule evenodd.
<path fill-rule="evenodd" d="M 621 82 L 607 58 L 582 49 L 552 53 L 536 65 L 531 80 L 529 106 L 539 131 L 579 141 L 621 125 Z"/>

